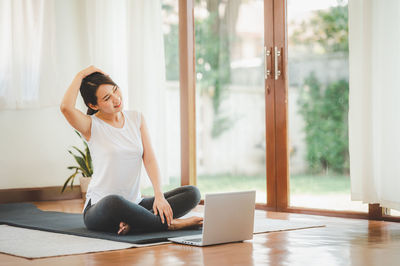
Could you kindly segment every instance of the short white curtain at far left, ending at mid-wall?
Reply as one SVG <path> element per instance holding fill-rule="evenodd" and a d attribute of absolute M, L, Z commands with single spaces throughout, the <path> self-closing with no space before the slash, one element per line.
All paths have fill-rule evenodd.
<path fill-rule="evenodd" d="M 0 0 L 0 110 L 59 103 L 53 0 Z"/>

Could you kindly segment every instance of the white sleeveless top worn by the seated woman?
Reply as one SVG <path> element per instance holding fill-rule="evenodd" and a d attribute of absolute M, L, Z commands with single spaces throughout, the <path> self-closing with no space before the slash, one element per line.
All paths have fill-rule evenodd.
<path fill-rule="evenodd" d="M 107 195 L 117 194 L 134 203 L 140 195 L 140 171 L 143 145 L 140 134 L 141 115 L 138 111 L 122 111 L 125 122 L 116 128 L 91 115 L 92 126 L 86 141 L 93 163 L 93 175 L 86 193 L 82 212 L 91 199 L 97 203 Z"/>

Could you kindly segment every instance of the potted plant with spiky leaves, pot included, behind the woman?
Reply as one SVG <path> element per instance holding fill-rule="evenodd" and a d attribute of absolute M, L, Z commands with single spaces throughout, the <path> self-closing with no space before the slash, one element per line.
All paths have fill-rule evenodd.
<path fill-rule="evenodd" d="M 89 147 L 86 142 L 83 140 L 81 134 L 75 130 L 75 133 L 82 139 L 83 144 L 85 145 L 85 151 L 81 151 L 75 146 L 72 146 L 75 150 L 77 150 L 80 155 L 74 154 L 72 151 L 68 150 L 68 152 L 74 156 L 75 161 L 78 163 L 78 166 L 69 166 L 68 169 L 75 170 L 75 172 L 70 175 L 64 183 L 64 186 L 61 190 L 61 193 L 64 192 L 68 183 L 71 183 L 71 189 L 73 189 L 74 180 L 76 175 L 79 173 L 81 176 L 79 177 L 80 185 L 81 185 L 81 193 L 83 200 L 86 200 L 86 191 L 89 186 L 92 174 L 93 174 L 93 165 L 92 165 L 92 157 L 90 156 Z"/>

